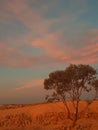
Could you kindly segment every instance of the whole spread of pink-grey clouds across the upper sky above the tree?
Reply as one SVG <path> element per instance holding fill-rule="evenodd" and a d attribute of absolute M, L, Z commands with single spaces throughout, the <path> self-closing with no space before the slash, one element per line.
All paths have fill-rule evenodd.
<path fill-rule="evenodd" d="M 77 0 L 76 0 L 77 1 Z M 77 3 L 77 2 L 76 2 Z M 79 2 L 80 4 L 80 2 Z M 81 5 L 81 4 L 80 4 Z M 23 52 L 21 49 L 17 49 L 15 46 L 13 48 L 0 46 L 0 62 L 8 67 L 34 67 L 37 64 L 43 64 L 47 63 L 69 63 L 69 62 L 88 62 L 88 63 L 94 63 L 97 62 L 97 54 L 98 51 L 97 47 L 94 46 L 95 42 L 98 40 L 98 38 L 95 36 L 95 34 L 98 34 L 98 30 L 91 30 L 88 31 L 86 34 L 88 36 L 88 39 L 83 39 L 85 45 L 83 48 L 73 48 L 71 43 L 66 43 L 66 39 L 62 40 L 64 38 L 63 31 L 56 31 L 54 33 L 48 33 L 50 27 L 54 25 L 55 23 L 65 23 L 64 25 L 67 25 L 68 23 L 75 22 L 77 19 L 77 14 L 73 15 L 70 14 L 61 14 L 58 18 L 54 19 L 45 19 L 43 14 L 44 11 L 47 10 L 47 7 L 44 6 L 43 9 L 36 10 L 35 8 L 30 8 L 27 4 L 27 1 L 25 0 L 13 0 L 12 2 L 6 1 L 5 3 L 5 9 L 7 12 L 10 12 L 10 17 L 20 20 L 23 24 L 25 24 L 27 27 L 29 27 L 32 31 L 34 30 L 37 34 L 42 34 L 41 38 L 34 37 L 34 41 L 32 42 L 32 48 L 37 47 L 43 50 L 43 55 L 40 55 L 39 57 L 29 55 L 26 52 Z M 6 15 L 6 14 L 4 14 Z M 67 28 L 67 26 L 66 26 Z M 69 31 L 69 28 L 67 28 L 66 34 Z M 62 29 L 61 29 L 62 30 Z M 71 30 L 70 30 L 71 31 Z M 69 32 L 70 32 L 69 31 Z M 33 34 L 32 34 L 33 35 Z M 92 36 L 92 37 L 91 37 Z M 76 36 L 78 37 L 78 36 Z M 82 36 L 81 36 L 82 37 Z M 29 38 L 27 36 L 22 37 L 23 40 L 27 42 L 27 45 L 30 45 Z M 71 37 L 69 38 L 71 39 Z M 81 38 L 82 39 L 82 38 Z M 80 39 L 79 39 L 80 40 Z M 14 41 L 13 41 L 14 42 Z M 22 41 L 21 41 L 22 42 Z M 79 41 L 80 44 L 81 40 Z M 90 48 L 87 45 L 90 43 Z M 62 46 L 61 46 L 62 44 Z M 93 59 L 89 59 L 88 57 L 93 57 Z"/>

